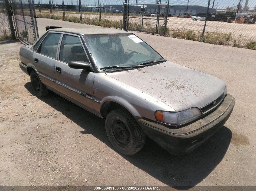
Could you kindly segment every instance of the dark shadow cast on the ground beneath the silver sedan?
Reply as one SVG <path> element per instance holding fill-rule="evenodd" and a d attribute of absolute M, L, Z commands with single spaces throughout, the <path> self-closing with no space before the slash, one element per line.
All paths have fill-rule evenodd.
<path fill-rule="evenodd" d="M 34 95 L 30 82 L 25 84 L 25 88 Z M 105 133 L 103 119 L 53 92 L 46 97 L 38 97 L 38 99 L 83 128 L 84 130 L 80 131 L 81 134 L 91 134 L 115 150 Z M 138 153 L 132 156 L 120 155 L 162 183 L 176 189 L 189 189 L 203 181 L 222 161 L 231 142 L 231 137 L 231 130 L 223 126 L 200 147 L 182 156 L 172 156 L 147 138 L 145 146 Z M 211 176 L 216 177 L 214 180 L 217 181 L 218 174 Z"/>

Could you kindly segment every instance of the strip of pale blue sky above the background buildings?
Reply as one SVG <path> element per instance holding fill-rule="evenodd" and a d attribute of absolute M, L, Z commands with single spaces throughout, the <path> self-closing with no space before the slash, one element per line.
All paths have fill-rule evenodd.
<path fill-rule="evenodd" d="M 34 0 L 35 3 L 38 3 L 38 0 Z M 61 0 L 51 0 L 54 2 L 54 4 L 62 4 Z M 77 2 L 79 0 L 64 0 L 64 3 L 68 5 L 71 5 L 71 2 L 73 2 L 73 5 L 77 5 Z M 138 0 L 139 4 L 155 4 L 155 0 Z M 49 0 L 40 0 L 41 3 L 48 3 Z M 121 5 L 123 4 L 124 0 L 101 0 L 101 5 Z M 128 2 L 128 0 L 127 0 Z M 135 0 L 130 0 L 130 3 L 135 3 Z M 166 0 L 161 0 L 161 4 L 165 4 Z M 218 2 L 218 3 L 217 3 Z M 170 5 L 187 5 L 188 0 L 170 0 Z M 212 7 L 212 3 L 213 0 L 211 0 L 210 3 L 210 7 Z M 223 8 L 227 8 L 232 7 L 233 5 L 238 5 L 239 0 L 215 0 L 214 2 L 214 8 L 217 9 L 223 9 Z M 245 0 L 241 0 L 241 4 L 242 6 L 244 6 Z M 95 4 L 98 5 L 98 0 L 81 0 L 81 5 L 85 5 L 85 4 Z M 208 5 L 208 0 L 189 0 L 189 4 L 188 5 L 201 5 L 201 6 L 205 6 L 207 7 Z M 251 9 L 254 8 L 254 6 L 256 5 L 256 1 L 255 0 L 249 0 L 248 2 L 248 7 L 250 7 Z"/>

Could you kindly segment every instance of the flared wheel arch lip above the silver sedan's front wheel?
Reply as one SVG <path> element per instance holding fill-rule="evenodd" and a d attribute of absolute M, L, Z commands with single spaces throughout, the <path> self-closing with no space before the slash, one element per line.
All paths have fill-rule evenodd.
<path fill-rule="evenodd" d="M 121 106 L 125 107 L 133 116 L 136 116 L 136 117 L 141 117 L 140 113 L 135 109 L 135 107 L 133 107 L 131 105 L 131 103 L 129 103 L 127 100 L 125 100 L 124 98 L 122 97 L 118 97 L 118 96 L 107 96 L 107 97 L 104 97 L 102 100 L 101 100 L 101 103 L 100 103 L 100 108 L 102 107 L 102 105 L 108 101 L 112 101 L 112 102 L 115 102 L 115 103 L 118 103 L 120 104 Z"/>

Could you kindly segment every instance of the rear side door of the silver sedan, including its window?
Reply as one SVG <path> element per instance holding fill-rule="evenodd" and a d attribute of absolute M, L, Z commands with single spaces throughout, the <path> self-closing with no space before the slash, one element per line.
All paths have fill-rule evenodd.
<path fill-rule="evenodd" d="M 32 62 L 34 62 L 33 64 L 43 84 L 50 88 L 55 88 L 56 86 L 54 82 L 54 71 L 61 35 L 62 32 L 49 32 L 41 44 L 38 41 L 35 47 L 33 47 L 35 52 L 33 53 Z"/>

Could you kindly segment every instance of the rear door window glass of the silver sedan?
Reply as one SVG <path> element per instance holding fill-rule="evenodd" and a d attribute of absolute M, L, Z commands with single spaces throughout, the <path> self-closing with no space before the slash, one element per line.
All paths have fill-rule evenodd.
<path fill-rule="evenodd" d="M 60 37 L 61 34 L 59 33 L 49 33 L 43 40 L 41 47 L 38 50 L 38 53 L 52 58 L 56 58 Z"/>

